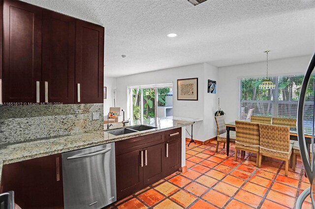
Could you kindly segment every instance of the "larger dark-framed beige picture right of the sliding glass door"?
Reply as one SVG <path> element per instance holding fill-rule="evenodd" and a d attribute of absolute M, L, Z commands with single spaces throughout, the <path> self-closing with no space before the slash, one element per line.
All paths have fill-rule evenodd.
<path fill-rule="evenodd" d="M 198 78 L 177 80 L 177 100 L 198 100 Z"/>

